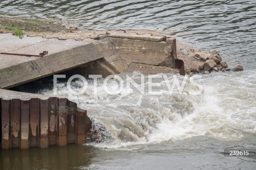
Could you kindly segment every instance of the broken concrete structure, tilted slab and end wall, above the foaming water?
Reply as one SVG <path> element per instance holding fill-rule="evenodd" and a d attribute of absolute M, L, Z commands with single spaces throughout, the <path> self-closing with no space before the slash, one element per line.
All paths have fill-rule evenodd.
<path fill-rule="evenodd" d="M 59 39 L 26 36 L 19 39 L 11 34 L 1 34 L 2 53 L 49 53 L 42 57 L 0 54 L 0 88 L 7 89 L 73 68 L 82 70 L 84 76 L 102 74 L 106 77 L 127 71 L 140 71 L 145 75 L 159 72 L 185 74 L 182 61 L 177 59 L 174 38 L 126 33 L 124 30 L 99 33 L 84 33 L 80 41 L 60 35 L 53 35 Z"/>

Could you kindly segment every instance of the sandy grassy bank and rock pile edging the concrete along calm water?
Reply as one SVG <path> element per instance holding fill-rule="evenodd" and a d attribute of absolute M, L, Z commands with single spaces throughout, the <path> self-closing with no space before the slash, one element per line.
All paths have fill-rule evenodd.
<path fill-rule="evenodd" d="M 86 38 L 95 39 L 99 35 L 108 35 L 111 30 L 79 31 L 76 26 L 70 26 L 61 20 L 31 19 L 0 16 L 0 33 L 12 33 L 17 36 L 58 38 L 59 40 L 75 39 L 83 41 Z M 116 30 L 113 30 L 116 31 Z M 153 30 L 124 30 L 127 34 L 150 34 L 151 36 L 166 36 Z M 177 58 L 184 63 L 184 71 L 189 76 L 194 74 L 209 74 L 211 71 L 241 71 L 243 67 L 228 68 L 226 62 L 222 62 L 218 51 L 210 50 L 209 53 L 202 52 L 200 48 L 177 43 Z"/>

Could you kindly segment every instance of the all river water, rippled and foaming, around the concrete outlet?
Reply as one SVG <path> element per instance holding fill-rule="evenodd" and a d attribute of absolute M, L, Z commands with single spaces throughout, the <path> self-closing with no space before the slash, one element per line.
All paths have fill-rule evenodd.
<path fill-rule="evenodd" d="M 250 1 L 0 1 L 0 14 L 62 19 L 88 29 L 151 29 L 203 50 L 217 49 L 230 67 L 244 71 L 194 76 L 203 93 L 142 95 L 133 86 L 98 95 L 66 87 L 59 97 L 78 101 L 99 143 L 0 151 L 0 169 L 255 169 L 256 157 L 225 157 L 224 148 L 256 149 L 256 2 Z M 139 72 L 128 73 L 134 80 Z M 155 76 L 163 77 L 162 74 Z M 120 75 L 125 77 L 125 74 Z M 167 75 L 173 82 L 173 75 Z M 146 77 L 147 78 L 147 77 Z M 182 82 L 183 77 L 177 77 Z M 81 82 L 73 83 L 79 86 Z M 115 87 L 115 82 L 109 82 Z M 148 86 L 148 82 L 145 82 Z M 130 90 L 128 93 L 127 91 Z M 52 95 L 51 89 L 38 93 Z"/>

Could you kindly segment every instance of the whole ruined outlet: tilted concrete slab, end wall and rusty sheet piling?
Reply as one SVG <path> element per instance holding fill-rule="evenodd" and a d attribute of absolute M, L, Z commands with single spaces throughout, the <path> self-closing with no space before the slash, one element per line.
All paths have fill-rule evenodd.
<path fill-rule="evenodd" d="M 181 72 L 175 39 L 163 35 L 107 31 L 83 39 L 0 34 L 1 148 L 49 147 L 91 140 L 86 111 L 67 99 L 3 90 L 72 70 L 106 77 L 127 71 Z M 81 38 L 81 36 L 80 36 Z M 61 40 L 60 40 L 61 39 Z M 47 54 L 38 56 L 47 51 Z M 9 53 L 9 54 L 6 54 Z M 23 54 L 23 55 L 15 55 Z"/>

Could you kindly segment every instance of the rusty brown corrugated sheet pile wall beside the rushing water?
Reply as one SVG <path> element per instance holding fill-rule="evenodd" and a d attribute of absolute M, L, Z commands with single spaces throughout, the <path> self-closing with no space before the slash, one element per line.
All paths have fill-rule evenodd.
<path fill-rule="evenodd" d="M 86 110 L 68 99 L 1 99 L 0 148 L 47 148 L 90 139 Z"/>

